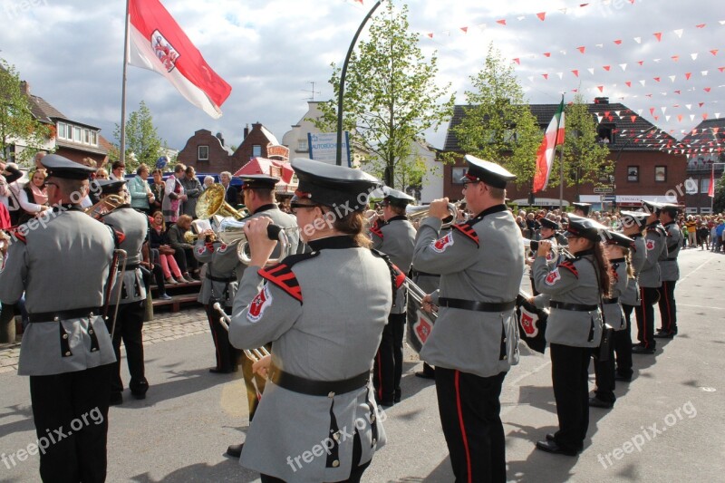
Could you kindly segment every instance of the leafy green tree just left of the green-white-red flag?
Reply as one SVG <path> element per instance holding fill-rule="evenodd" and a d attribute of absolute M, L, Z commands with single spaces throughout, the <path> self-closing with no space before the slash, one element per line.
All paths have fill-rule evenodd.
<path fill-rule="evenodd" d="M 541 130 L 514 74 L 493 45 L 483 68 L 470 77 L 474 91 L 466 92 L 469 106 L 451 130 L 460 150 L 495 161 L 517 175 L 517 185 L 531 183 Z"/>

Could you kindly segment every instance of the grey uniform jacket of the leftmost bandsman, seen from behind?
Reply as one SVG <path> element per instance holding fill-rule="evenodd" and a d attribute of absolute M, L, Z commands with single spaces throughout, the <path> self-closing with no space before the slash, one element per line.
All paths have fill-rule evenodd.
<path fill-rule="evenodd" d="M 24 291 L 30 314 L 102 306 L 111 230 L 78 208 L 61 209 L 53 208 L 45 227 L 25 231 L 24 241 L 9 246 L 0 269 L 3 304 L 14 304 Z M 102 316 L 51 320 L 25 329 L 18 374 L 83 371 L 115 361 Z"/>

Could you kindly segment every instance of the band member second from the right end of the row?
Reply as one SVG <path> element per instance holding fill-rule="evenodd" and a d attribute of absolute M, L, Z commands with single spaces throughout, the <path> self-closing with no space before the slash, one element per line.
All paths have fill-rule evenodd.
<path fill-rule="evenodd" d="M 644 228 L 644 247 L 647 252 L 646 260 L 637 278 L 640 285 L 639 306 L 634 308 L 637 315 L 637 340 L 639 343 L 633 346 L 632 353 L 653 354 L 656 343 L 654 342 L 654 309 L 659 297 L 659 288 L 662 286 L 662 275 L 660 273 L 660 260 L 667 258 L 667 232 L 660 223 L 659 203 L 643 201 L 643 207 L 648 214 L 647 226 Z"/>

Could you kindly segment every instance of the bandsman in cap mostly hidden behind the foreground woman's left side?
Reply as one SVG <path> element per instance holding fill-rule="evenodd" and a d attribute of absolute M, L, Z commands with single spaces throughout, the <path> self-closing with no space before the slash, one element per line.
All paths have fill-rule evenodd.
<path fill-rule="evenodd" d="M 242 199 L 244 205 L 251 215 L 244 218 L 245 221 L 258 217 L 268 217 L 277 227 L 292 228 L 297 227 L 297 220 L 292 215 L 285 213 L 275 203 L 275 186 L 279 182 L 279 178 L 267 176 L 264 174 L 245 175 L 242 177 Z M 233 190 L 234 188 L 230 188 Z M 229 190 L 227 190 L 227 193 Z M 290 253 L 296 253 L 299 245 L 299 234 L 296 230 L 288 233 L 290 243 Z M 227 247 L 234 254 L 237 253 L 237 245 Z M 279 258 L 279 248 L 275 248 L 272 258 Z M 218 270 L 231 271 L 237 273 L 237 281 L 241 283 L 247 266 L 244 265 L 237 256 L 220 257 L 217 264 Z M 218 318 L 218 317 L 217 317 Z M 269 341 L 266 341 L 268 343 Z M 262 344 L 260 344 L 262 345 Z M 251 422 L 256 413 L 259 397 L 257 391 L 265 391 L 265 378 L 256 375 L 252 371 L 252 362 L 247 357 L 241 358 L 242 376 L 244 378 L 245 387 L 247 388 L 247 403 L 249 405 L 249 421 Z M 243 444 L 232 444 L 227 448 L 227 455 L 233 458 L 239 458 L 242 454 Z"/>

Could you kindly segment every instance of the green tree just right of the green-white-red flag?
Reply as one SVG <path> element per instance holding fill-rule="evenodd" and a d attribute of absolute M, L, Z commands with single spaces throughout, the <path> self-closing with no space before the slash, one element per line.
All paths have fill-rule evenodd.
<path fill-rule="evenodd" d="M 575 199 L 579 199 L 579 187 L 586 183 L 609 184 L 614 175 L 614 163 L 607 159 L 609 150 L 597 142 L 596 121 L 581 94 L 565 107 L 564 182 L 575 187 Z M 549 188 L 560 183 L 560 157 L 556 151 Z"/>

